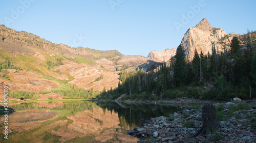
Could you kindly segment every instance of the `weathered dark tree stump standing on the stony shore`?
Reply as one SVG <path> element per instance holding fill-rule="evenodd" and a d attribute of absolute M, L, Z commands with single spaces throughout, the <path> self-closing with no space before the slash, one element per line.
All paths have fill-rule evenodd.
<path fill-rule="evenodd" d="M 203 126 L 201 129 L 192 137 L 196 137 L 198 135 L 208 135 L 209 132 L 214 131 L 214 129 L 219 129 L 219 121 L 216 117 L 216 109 L 210 103 L 204 103 L 202 107 L 202 118 L 203 118 Z"/>

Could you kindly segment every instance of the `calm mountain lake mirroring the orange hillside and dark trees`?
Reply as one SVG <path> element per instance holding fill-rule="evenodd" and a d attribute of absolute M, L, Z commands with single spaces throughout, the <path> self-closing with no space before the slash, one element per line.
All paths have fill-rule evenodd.
<path fill-rule="evenodd" d="M 40 101 L 10 107 L 16 112 L 8 117 L 9 135 L 4 142 L 137 142 L 138 138 L 126 134 L 128 130 L 179 110 L 158 104 L 91 101 Z M 2 129 L 4 120 L 0 118 Z"/>

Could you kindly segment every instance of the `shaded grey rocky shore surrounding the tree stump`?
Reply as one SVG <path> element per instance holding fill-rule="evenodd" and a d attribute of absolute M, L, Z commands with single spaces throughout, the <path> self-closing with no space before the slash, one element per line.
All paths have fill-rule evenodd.
<path fill-rule="evenodd" d="M 194 135 L 202 126 L 202 106 L 183 109 L 169 117 L 156 117 L 135 127 L 127 134 L 141 138 L 139 142 L 255 142 L 256 102 L 215 104 L 217 116 L 223 116 L 220 128 L 207 136 Z"/>

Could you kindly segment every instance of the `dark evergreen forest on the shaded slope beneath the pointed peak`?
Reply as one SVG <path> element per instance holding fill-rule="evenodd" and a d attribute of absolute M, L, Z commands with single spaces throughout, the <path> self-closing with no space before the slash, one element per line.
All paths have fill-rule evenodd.
<path fill-rule="evenodd" d="M 200 54 L 195 50 L 192 62 L 185 59 L 184 49 L 177 48 L 175 58 L 150 72 L 142 70 L 121 72 L 118 88 L 102 92 L 102 98 L 115 99 L 166 99 L 192 97 L 229 100 L 239 97 L 256 97 L 255 47 L 248 41 L 240 49 L 237 37 L 231 41 L 231 51 L 218 51 L 212 43 L 212 52 Z"/>

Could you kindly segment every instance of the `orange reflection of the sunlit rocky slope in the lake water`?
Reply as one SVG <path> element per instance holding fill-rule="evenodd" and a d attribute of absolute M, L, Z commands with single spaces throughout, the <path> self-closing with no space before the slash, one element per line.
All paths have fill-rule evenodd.
<path fill-rule="evenodd" d="M 73 122 L 67 127 L 61 127 L 51 133 L 61 136 L 61 140 L 71 140 L 76 137 L 96 136 L 95 141 L 105 142 L 113 140 L 115 135 L 122 135 L 120 139 L 124 142 L 137 142 L 138 138 L 126 135 L 120 127 L 118 114 L 101 108 L 87 109 L 75 115 L 67 117 Z M 57 121 L 54 125 L 65 125 L 65 121 Z M 123 135 L 124 134 L 124 135 Z"/>

